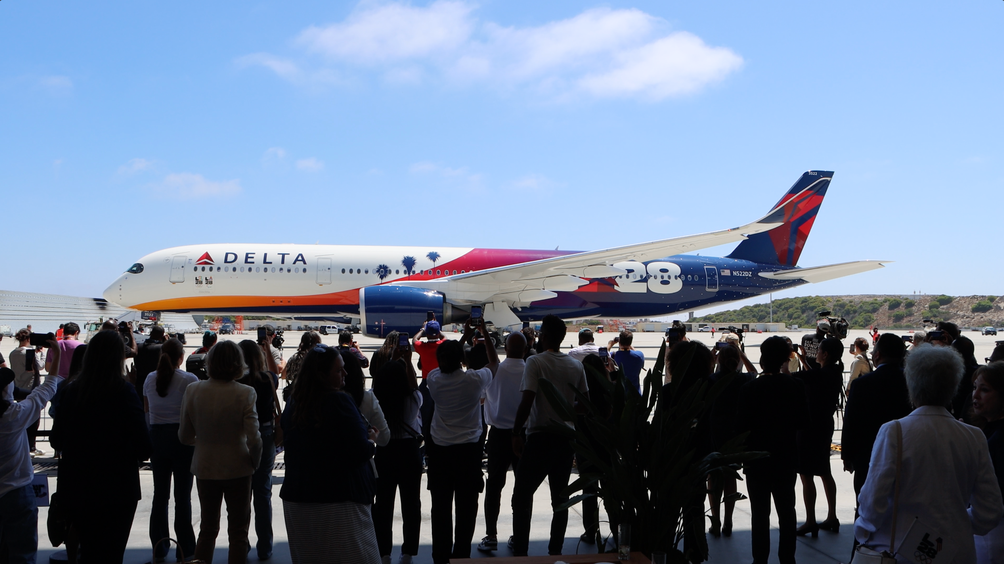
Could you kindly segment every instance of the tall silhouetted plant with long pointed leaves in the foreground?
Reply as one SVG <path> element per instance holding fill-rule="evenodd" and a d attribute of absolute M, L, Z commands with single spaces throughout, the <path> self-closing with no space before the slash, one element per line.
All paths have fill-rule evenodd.
<path fill-rule="evenodd" d="M 582 426 L 570 429 L 553 420 L 547 426 L 551 433 L 573 441 L 580 464 L 578 479 L 568 485 L 564 494 L 571 496 L 587 488 L 597 490 L 595 494 L 572 496 L 558 509 L 596 496 L 603 500 L 614 534 L 618 524 L 632 525 L 633 551 L 645 554 L 664 551 L 669 562 L 674 563 L 701 562 L 708 558 L 703 509 L 708 474 L 722 472 L 742 480 L 738 472 L 741 465 L 766 456 L 743 450 L 747 434 L 728 442 L 721 452 L 699 456 L 703 440 L 701 419 L 731 377 L 720 378 L 714 384 L 702 378 L 680 389 L 679 382 L 692 356 L 693 350 L 679 365 L 672 366 L 673 374 L 679 377 L 672 378 L 664 391 L 664 339 L 656 365 L 646 374 L 641 395 L 634 387 L 628 387 L 630 383 L 625 386 L 619 370 L 611 374 L 613 381 L 610 381 L 605 374 L 586 365 L 609 394 L 612 412 L 603 417 L 589 397 L 575 389 L 578 403 L 588 412 L 579 419 L 584 419 L 586 429 L 579 429 Z M 565 420 L 576 419 L 573 406 L 550 381 L 541 378 L 540 389 Z M 663 393 L 667 397 L 661 401 Z M 745 497 L 735 494 L 735 499 Z M 614 550 L 615 546 L 614 543 Z"/>

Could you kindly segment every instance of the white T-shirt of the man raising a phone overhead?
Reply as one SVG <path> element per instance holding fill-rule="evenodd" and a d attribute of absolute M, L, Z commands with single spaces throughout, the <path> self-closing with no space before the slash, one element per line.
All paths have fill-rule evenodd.
<path fill-rule="evenodd" d="M 481 392 L 492 382 L 489 368 L 463 368 L 443 373 L 439 368 L 426 378 L 436 402 L 429 432 L 441 447 L 474 443 L 481 438 Z"/>

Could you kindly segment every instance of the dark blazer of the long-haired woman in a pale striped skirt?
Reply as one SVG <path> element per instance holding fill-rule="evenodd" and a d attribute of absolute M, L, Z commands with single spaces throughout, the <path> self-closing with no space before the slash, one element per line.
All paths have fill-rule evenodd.
<path fill-rule="evenodd" d="M 354 502 L 371 505 L 375 492 L 369 460 L 376 446 L 352 396 L 332 391 L 324 398 L 320 427 L 293 425 L 296 403 L 282 411 L 286 477 L 279 497 L 293 503 Z"/>

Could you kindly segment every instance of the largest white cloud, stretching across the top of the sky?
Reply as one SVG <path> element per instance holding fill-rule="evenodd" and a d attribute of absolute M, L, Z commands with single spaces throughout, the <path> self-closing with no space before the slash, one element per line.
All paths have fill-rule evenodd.
<path fill-rule="evenodd" d="M 310 76 L 375 71 L 389 83 L 439 77 L 454 84 L 526 87 L 554 96 L 658 100 L 699 91 L 738 70 L 741 56 L 707 45 L 637 9 L 595 8 L 537 26 L 479 21 L 476 5 L 425 7 L 360 2 L 344 21 L 310 26 L 294 45 L 320 60 L 294 62 L 268 53 L 241 57 L 294 83 Z M 305 71 L 303 68 L 316 67 Z"/>

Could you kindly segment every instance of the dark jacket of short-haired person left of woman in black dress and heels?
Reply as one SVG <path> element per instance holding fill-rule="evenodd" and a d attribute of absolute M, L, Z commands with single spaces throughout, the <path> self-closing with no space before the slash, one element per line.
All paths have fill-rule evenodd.
<path fill-rule="evenodd" d="M 737 422 L 749 431 L 746 448 L 770 457 L 746 463 L 745 472 L 794 472 L 795 436 L 808 425 L 805 384 L 788 374 L 763 374 L 739 388 Z"/>

